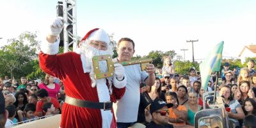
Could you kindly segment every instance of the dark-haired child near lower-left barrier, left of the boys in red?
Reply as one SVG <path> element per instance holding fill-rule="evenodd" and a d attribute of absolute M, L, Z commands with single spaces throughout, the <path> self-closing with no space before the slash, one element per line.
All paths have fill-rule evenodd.
<path fill-rule="evenodd" d="M 33 121 L 35 119 L 35 111 L 36 111 L 36 106 L 33 103 L 28 103 L 25 106 L 24 112 L 23 111 L 18 111 L 18 116 L 19 119 L 22 120 L 24 123 Z"/>

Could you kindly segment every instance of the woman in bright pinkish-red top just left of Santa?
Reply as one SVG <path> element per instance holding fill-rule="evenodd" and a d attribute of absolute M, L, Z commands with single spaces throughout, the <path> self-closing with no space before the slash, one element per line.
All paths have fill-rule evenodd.
<path fill-rule="evenodd" d="M 54 77 L 46 74 L 44 83 L 39 84 L 40 89 L 45 89 L 49 93 L 49 97 L 57 99 L 57 93 L 63 93 L 63 90 L 60 88 L 60 84 L 54 83 Z"/>

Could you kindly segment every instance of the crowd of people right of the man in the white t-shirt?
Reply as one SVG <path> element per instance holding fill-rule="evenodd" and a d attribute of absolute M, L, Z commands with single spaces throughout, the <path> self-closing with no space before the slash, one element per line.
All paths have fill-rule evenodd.
<path fill-rule="evenodd" d="M 166 57 L 164 57 L 166 59 Z M 164 60 L 168 63 L 170 58 Z M 216 93 L 223 99 L 225 109 L 230 121 L 234 122 L 236 127 L 244 126 L 244 118 L 247 116 L 256 116 L 256 74 L 254 70 L 254 61 L 249 60 L 246 67 L 241 68 L 239 72 L 230 70 L 230 64 L 226 62 L 218 77 L 216 83 L 216 73 L 213 73 L 207 90 L 202 87 L 200 81 L 200 72 L 196 72 L 195 68 L 190 68 L 188 74 L 175 74 L 173 65 L 169 63 L 170 70 L 166 72 L 166 64 L 163 68 L 157 67 L 156 81 L 153 86 L 141 84 L 141 108 L 143 104 L 151 104 L 152 101 L 159 98 L 165 100 L 166 103 L 172 103 L 172 108 L 169 108 L 168 123 L 179 126 L 191 125 L 194 126 L 195 113 L 203 109 L 202 95 L 205 92 L 214 92 L 216 86 Z M 161 80 L 160 80 L 161 79 Z M 154 90 L 152 92 L 152 90 Z M 165 97 L 163 97 L 165 95 Z M 145 103 L 146 102 L 146 103 Z M 152 120 L 152 116 L 148 115 L 147 109 L 144 118 L 141 113 L 138 119 L 143 124 L 148 124 Z M 148 119 L 148 118 L 151 118 Z M 249 121 L 246 120 L 248 124 Z M 253 124 L 254 122 L 250 122 Z"/>

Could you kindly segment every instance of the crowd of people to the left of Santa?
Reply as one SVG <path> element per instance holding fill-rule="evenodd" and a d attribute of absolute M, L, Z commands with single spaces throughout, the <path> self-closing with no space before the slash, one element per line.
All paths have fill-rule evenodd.
<path fill-rule="evenodd" d="M 6 127 L 61 113 L 65 92 L 55 77 L 46 75 L 42 82 L 21 77 L 17 83 L 5 76 L 0 78 L 0 83 L 9 113 Z"/>

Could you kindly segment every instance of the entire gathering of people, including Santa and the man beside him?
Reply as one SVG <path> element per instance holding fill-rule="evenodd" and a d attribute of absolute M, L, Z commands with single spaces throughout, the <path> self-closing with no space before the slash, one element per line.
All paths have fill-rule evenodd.
<path fill-rule="evenodd" d="M 56 55 L 63 24 L 60 17 L 54 20 L 47 42 L 42 44 L 39 60 L 46 73 L 44 81 L 21 77 L 18 83 L 8 76 L 0 80 L 8 111 L 0 109 L 0 116 L 8 115 L 6 127 L 58 113 L 60 127 L 194 127 L 195 114 L 202 110 L 202 95 L 214 90 L 222 97 L 236 127 L 255 124 L 251 120 L 256 116 L 253 60 L 239 71 L 230 70 L 226 62 L 221 83 L 216 85 L 216 74 L 212 74 L 207 90 L 195 68 L 191 67 L 187 75 L 177 74 L 170 56 L 163 56 L 163 67 L 155 69 L 148 64 L 143 71 L 140 65 L 123 67 L 116 63 L 112 65 L 113 76 L 96 79 L 92 57 L 113 54 L 108 35 L 103 29 L 92 29 L 76 52 Z M 113 61 L 131 61 L 134 41 L 121 38 L 116 51 L 118 57 Z M 107 72 L 105 63 L 99 64 L 100 72 Z"/>

